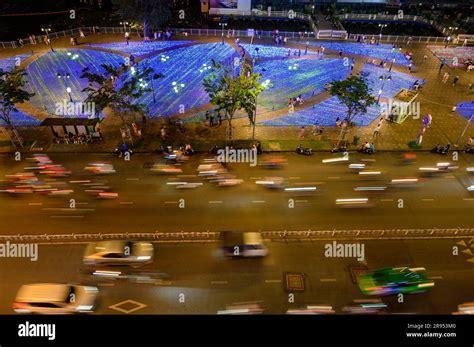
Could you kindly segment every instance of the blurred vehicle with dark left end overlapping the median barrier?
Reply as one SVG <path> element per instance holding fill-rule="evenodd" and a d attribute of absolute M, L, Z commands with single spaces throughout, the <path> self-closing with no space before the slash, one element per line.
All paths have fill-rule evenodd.
<path fill-rule="evenodd" d="M 221 235 L 222 251 L 227 257 L 265 257 L 268 254 L 260 233 L 224 231 Z"/>

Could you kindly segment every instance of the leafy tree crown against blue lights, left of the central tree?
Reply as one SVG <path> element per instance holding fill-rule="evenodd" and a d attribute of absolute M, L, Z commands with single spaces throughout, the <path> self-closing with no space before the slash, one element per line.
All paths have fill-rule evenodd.
<path fill-rule="evenodd" d="M 106 107 L 112 108 L 120 115 L 124 124 L 124 114 L 127 112 L 146 114 L 146 105 L 137 103 L 136 100 L 152 91 L 147 81 L 162 75 L 155 74 L 151 67 L 138 69 L 124 64 L 118 68 L 111 64 L 100 66 L 103 72 L 90 72 L 88 67 L 82 71 L 81 78 L 89 81 L 89 85 L 82 90 L 88 94 L 85 101 L 93 102 L 96 112 L 101 112 Z M 115 85 L 114 81 L 127 70 L 130 70 L 130 76 Z"/>

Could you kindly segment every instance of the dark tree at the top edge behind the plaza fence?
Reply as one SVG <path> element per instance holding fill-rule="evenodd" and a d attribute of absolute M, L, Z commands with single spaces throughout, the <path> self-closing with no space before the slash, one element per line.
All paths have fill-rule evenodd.
<path fill-rule="evenodd" d="M 123 19 L 131 19 L 143 23 L 145 36 L 149 28 L 160 28 L 171 18 L 169 0 L 112 0 L 118 6 L 117 13 Z"/>

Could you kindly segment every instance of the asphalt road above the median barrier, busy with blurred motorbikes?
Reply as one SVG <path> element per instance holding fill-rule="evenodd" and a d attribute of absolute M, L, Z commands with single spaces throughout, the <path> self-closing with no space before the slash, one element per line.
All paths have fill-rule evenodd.
<path fill-rule="evenodd" d="M 268 158 L 259 157 L 259 162 Z M 231 174 L 244 180 L 240 186 L 217 187 L 195 177 L 204 156 L 195 156 L 181 165 L 180 176 L 160 176 L 147 167 L 160 163 L 158 155 L 136 154 L 124 161 L 112 154 L 52 154 L 55 163 L 72 170 L 70 177 L 54 179 L 61 187 L 74 190 L 67 196 L 11 195 L 0 193 L 0 234 L 84 233 L 84 232 L 155 232 L 155 231 L 221 231 L 221 230 L 333 230 L 391 228 L 472 227 L 474 195 L 466 187 L 474 175 L 466 167 L 474 166 L 474 156 L 461 154 L 459 169 L 437 177 L 426 177 L 417 188 L 390 187 L 392 179 L 418 177 L 419 167 L 450 161 L 446 156 L 418 154 L 417 162 L 401 165 L 399 154 L 378 153 L 373 156 L 350 154 L 350 162 L 365 163 L 380 171 L 376 177 L 361 177 L 350 172 L 348 163 L 323 164 L 327 153 L 311 157 L 286 154 L 288 164 L 281 169 L 266 169 L 249 164 L 229 164 Z M 341 156 L 340 154 L 334 156 Z M 112 162 L 116 174 L 93 177 L 83 168 L 95 161 Z M 452 160 L 451 160 L 452 162 Z M 11 186 L 6 175 L 31 166 L 16 162 L 13 155 L 0 156 L 0 182 Z M 312 195 L 298 196 L 283 190 L 257 186 L 255 181 L 267 176 L 284 177 L 290 186 L 316 186 Z M 39 176 L 42 180 L 43 175 Z M 47 179 L 47 178 L 46 178 Z M 119 193 L 114 200 L 97 200 L 77 180 L 104 182 Z M 177 189 L 173 181 L 204 182 L 194 189 Z M 354 191 L 357 187 L 388 186 L 384 192 Z M 89 187 L 90 188 L 90 187 Z M 1 189 L 1 188 L 0 188 Z M 336 199 L 365 198 L 373 204 L 366 209 L 344 209 Z M 70 199 L 76 208 L 71 209 Z M 183 199 L 183 200 L 180 200 Z M 289 200 L 294 200 L 294 208 Z M 400 200 L 402 199 L 402 200 Z M 180 208 L 184 201 L 184 208 Z M 403 208 L 400 202 L 403 202 Z"/>

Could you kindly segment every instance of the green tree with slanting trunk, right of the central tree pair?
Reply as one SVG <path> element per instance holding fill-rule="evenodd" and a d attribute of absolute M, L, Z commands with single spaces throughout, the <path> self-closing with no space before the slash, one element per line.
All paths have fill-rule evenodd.
<path fill-rule="evenodd" d="M 337 96 L 347 107 L 346 127 L 341 128 L 338 146 L 346 141 L 346 135 L 355 117 L 366 113 L 367 108 L 375 103 L 372 90 L 367 85 L 367 81 L 362 76 L 350 76 L 343 81 L 331 82 L 329 94 Z"/>

